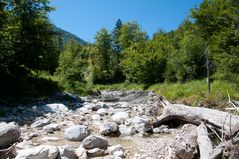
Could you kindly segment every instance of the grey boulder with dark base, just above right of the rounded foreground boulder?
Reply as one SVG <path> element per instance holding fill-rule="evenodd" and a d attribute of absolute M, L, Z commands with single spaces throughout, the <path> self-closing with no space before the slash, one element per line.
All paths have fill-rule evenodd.
<path fill-rule="evenodd" d="M 115 122 L 105 122 L 100 129 L 100 134 L 104 136 L 119 136 L 119 126 Z"/>

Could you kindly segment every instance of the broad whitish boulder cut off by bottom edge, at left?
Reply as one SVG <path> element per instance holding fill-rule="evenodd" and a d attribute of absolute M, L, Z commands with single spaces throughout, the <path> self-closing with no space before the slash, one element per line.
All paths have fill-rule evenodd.
<path fill-rule="evenodd" d="M 18 151 L 15 159 L 56 159 L 58 153 L 56 146 L 41 145 Z"/>

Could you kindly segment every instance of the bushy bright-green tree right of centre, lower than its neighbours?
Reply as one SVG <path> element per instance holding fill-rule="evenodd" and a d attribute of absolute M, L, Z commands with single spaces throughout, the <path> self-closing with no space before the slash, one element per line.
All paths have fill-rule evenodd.
<path fill-rule="evenodd" d="M 163 82 L 166 57 L 171 49 L 169 39 L 162 32 L 150 41 L 132 44 L 124 51 L 121 62 L 126 80 L 147 84 Z"/>

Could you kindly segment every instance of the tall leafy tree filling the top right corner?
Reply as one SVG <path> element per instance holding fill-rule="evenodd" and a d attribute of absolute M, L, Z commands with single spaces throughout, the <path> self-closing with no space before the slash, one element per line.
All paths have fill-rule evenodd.
<path fill-rule="evenodd" d="M 218 71 L 234 75 L 239 73 L 238 8 L 237 0 L 204 0 L 192 11 Z"/>

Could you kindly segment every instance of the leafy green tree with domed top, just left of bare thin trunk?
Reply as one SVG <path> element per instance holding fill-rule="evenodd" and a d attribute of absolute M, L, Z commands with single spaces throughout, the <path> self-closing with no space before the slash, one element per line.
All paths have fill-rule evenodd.
<path fill-rule="evenodd" d="M 197 26 L 186 20 L 174 32 L 173 39 L 177 39 L 177 44 L 168 56 L 166 80 L 186 82 L 205 77 L 206 43 Z"/>

